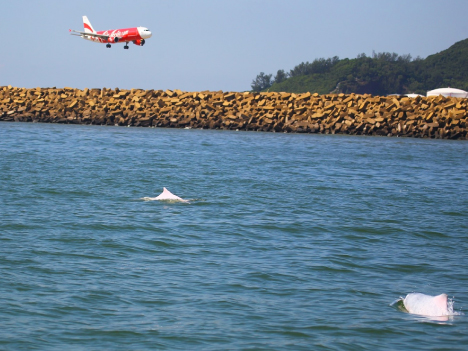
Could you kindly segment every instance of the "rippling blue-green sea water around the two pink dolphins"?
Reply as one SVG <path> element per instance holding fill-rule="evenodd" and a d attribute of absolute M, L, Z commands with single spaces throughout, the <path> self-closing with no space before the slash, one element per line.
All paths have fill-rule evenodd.
<path fill-rule="evenodd" d="M 163 187 L 190 203 L 144 201 Z M 468 347 L 468 143 L 0 123 L 0 349 Z"/>

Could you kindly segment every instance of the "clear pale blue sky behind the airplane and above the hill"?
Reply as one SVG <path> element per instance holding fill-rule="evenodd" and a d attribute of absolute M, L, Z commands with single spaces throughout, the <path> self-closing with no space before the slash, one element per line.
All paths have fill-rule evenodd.
<path fill-rule="evenodd" d="M 146 45 L 69 35 L 135 26 Z M 245 91 L 261 71 L 373 51 L 428 55 L 468 37 L 466 0 L 2 1 L 0 86 Z"/>

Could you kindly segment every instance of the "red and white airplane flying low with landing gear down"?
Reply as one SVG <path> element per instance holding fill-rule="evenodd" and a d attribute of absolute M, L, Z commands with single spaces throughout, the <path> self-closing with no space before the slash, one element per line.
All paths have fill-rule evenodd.
<path fill-rule="evenodd" d="M 124 49 L 128 49 L 128 43 L 132 42 L 135 45 L 145 45 L 146 39 L 151 38 L 151 31 L 146 27 L 133 27 L 124 29 L 110 29 L 96 32 L 89 22 L 88 17 L 83 16 L 84 32 L 69 29 L 71 35 L 82 37 L 86 40 L 91 40 L 96 43 L 106 43 L 106 48 L 110 48 L 111 44 L 125 42 Z M 78 33 L 78 34 L 74 34 Z"/>

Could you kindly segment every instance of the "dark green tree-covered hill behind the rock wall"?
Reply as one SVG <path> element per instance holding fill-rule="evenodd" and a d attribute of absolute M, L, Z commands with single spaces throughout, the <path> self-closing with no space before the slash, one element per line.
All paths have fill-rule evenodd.
<path fill-rule="evenodd" d="M 278 70 L 272 76 L 261 72 L 252 81 L 252 90 L 372 95 L 426 94 L 448 86 L 468 90 L 468 39 L 426 59 L 389 52 L 342 60 L 335 56 L 302 62 L 288 73 Z"/>

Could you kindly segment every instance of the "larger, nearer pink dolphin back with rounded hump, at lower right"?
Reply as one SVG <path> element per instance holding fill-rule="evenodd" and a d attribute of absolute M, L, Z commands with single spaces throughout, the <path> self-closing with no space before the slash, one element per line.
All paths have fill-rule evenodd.
<path fill-rule="evenodd" d="M 410 293 L 403 299 L 403 305 L 409 313 L 426 317 L 453 315 L 452 303 L 447 302 L 447 294 L 437 296 Z"/>

